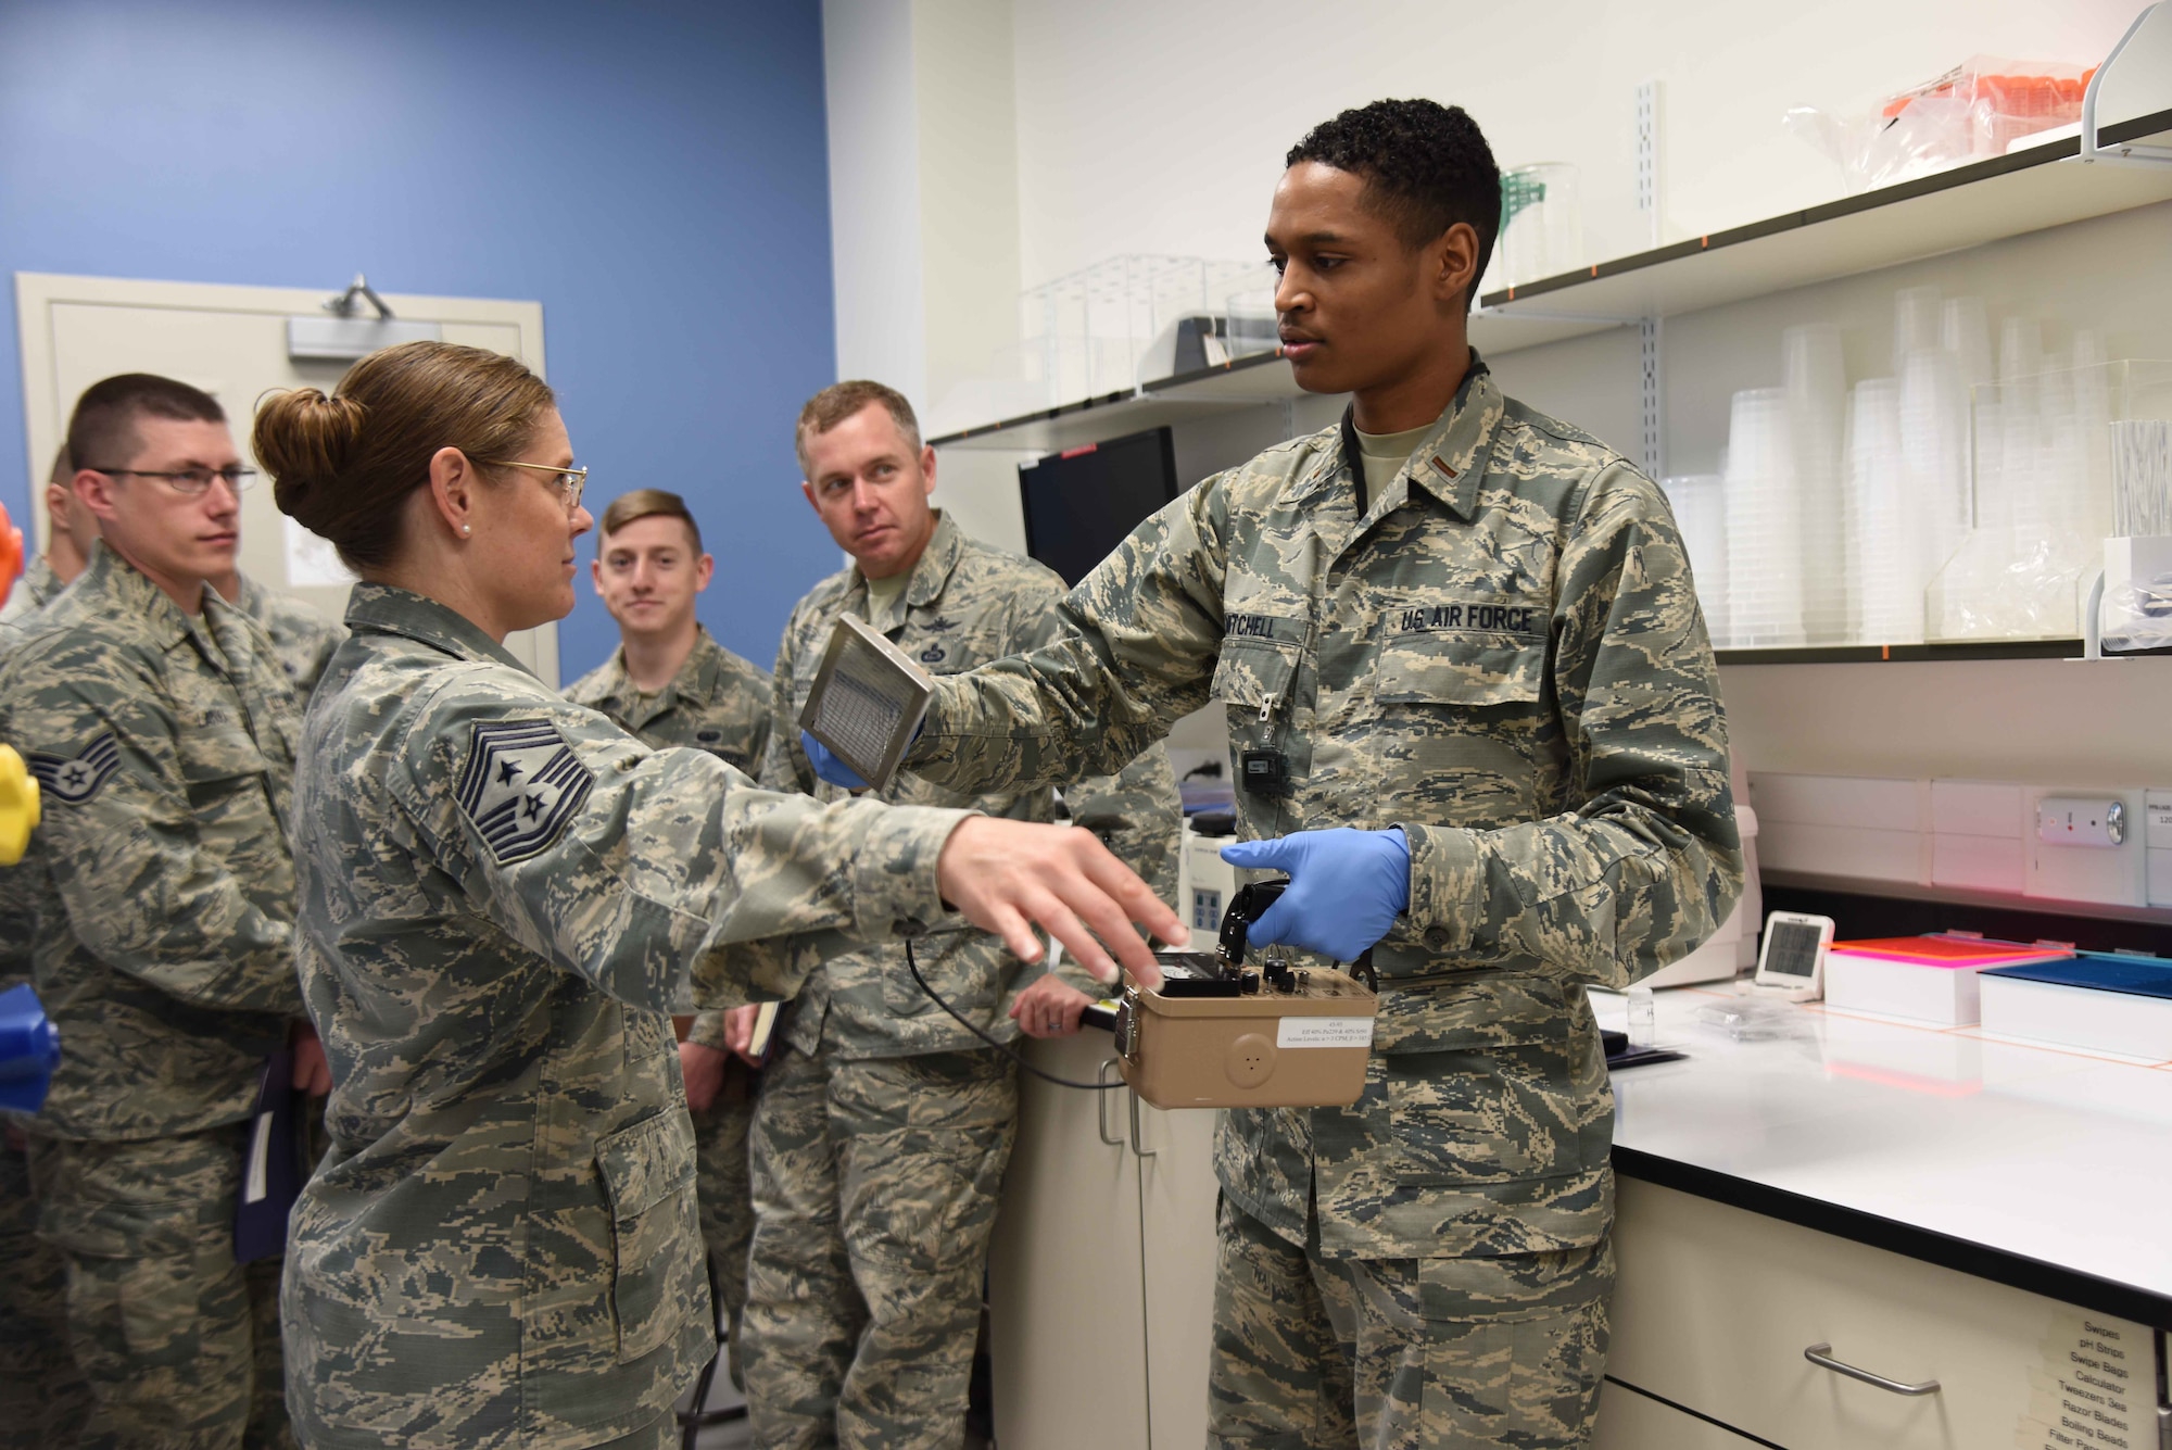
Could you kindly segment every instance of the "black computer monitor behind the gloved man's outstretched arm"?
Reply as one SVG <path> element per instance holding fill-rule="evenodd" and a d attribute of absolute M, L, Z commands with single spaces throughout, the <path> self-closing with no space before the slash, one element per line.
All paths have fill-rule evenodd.
<path fill-rule="evenodd" d="M 1166 428 L 1019 465 L 1025 551 L 1077 584 L 1162 504 L 1182 493 Z"/>

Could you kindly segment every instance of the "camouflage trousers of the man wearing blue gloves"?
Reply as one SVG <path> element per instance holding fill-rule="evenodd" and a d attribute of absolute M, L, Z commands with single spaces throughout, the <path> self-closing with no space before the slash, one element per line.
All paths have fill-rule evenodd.
<path fill-rule="evenodd" d="M 1216 1450 L 1592 1443 L 1614 1248 L 1323 1259 L 1221 1205 Z"/>

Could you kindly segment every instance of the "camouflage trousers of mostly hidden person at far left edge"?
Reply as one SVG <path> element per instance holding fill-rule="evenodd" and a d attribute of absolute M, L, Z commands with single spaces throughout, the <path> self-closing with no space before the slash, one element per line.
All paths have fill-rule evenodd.
<path fill-rule="evenodd" d="M 30 1161 L 0 1142 L 0 1450 L 74 1446 L 89 1413 L 67 1352 L 67 1263 L 37 1237 Z"/>

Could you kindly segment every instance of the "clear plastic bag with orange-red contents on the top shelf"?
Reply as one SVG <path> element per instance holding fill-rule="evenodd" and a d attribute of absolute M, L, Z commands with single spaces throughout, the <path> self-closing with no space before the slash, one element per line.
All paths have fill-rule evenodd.
<path fill-rule="evenodd" d="M 1848 193 L 1890 187 L 2081 119 L 2092 69 L 2057 61 L 1970 56 L 1944 76 L 1840 115 L 1794 106 L 1783 126 L 1840 165 Z"/>

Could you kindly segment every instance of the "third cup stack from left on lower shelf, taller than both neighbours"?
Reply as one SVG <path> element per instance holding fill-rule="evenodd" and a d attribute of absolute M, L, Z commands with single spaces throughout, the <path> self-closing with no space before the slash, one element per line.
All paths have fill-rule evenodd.
<path fill-rule="evenodd" d="M 1801 508 L 1803 634 L 1811 645 L 1848 638 L 1846 504 L 1840 449 L 1846 432 L 1848 376 L 1840 328 L 1805 323 L 1781 336 L 1788 378 L 1788 436 Z"/>

